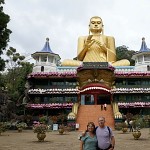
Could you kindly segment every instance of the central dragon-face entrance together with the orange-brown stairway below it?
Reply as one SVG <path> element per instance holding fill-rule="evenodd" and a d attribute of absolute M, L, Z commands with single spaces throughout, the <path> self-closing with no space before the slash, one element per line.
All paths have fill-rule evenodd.
<path fill-rule="evenodd" d="M 77 69 L 77 80 L 81 102 L 77 115 L 79 130 L 86 127 L 88 120 L 97 124 L 99 116 L 104 116 L 106 124 L 114 129 L 111 106 L 111 87 L 115 80 L 114 68 L 108 62 L 86 62 Z"/>

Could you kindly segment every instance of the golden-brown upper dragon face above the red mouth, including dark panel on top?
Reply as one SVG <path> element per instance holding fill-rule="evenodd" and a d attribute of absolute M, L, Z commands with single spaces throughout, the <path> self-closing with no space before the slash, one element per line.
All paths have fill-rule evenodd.
<path fill-rule="evenodd" d="M 114 84 L 114 67 L 108 62 L 83 62 L 77 69 L 79 88 L 99 84 L 111 88 Z"/>

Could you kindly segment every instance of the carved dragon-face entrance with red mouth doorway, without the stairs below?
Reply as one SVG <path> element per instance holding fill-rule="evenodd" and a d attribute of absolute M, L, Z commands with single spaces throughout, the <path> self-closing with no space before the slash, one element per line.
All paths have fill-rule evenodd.
<path fill-rule="evenodd" d="M 114 68 L 107 62 L 84 62 L 77 69 L 81 104 L 100 105 L 111 103 Z"/>

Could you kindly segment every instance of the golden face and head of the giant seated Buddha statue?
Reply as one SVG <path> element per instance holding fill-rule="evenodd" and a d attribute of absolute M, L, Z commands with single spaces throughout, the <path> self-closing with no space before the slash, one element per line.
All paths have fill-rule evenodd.
<path fill-rule="evenodd" d="M 90 20 L 89 29 L 91 32 L 101 33 L 103 27 L 102 19 L 99 17 L 93 17 Z"/>

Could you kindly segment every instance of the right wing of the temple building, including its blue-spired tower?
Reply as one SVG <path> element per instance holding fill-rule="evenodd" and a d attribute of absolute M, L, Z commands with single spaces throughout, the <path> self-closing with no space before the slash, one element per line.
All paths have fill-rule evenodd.
<path fill-rule="evenodd" d="M 135 66 L 116 67 L 113 100 L 118 103 L 121 112 L 126 114 L 150 114 L 150 49 L 145 38 L 141 48 L 132 59 Z"/>

